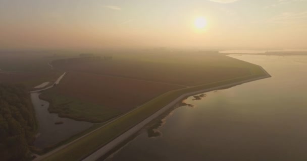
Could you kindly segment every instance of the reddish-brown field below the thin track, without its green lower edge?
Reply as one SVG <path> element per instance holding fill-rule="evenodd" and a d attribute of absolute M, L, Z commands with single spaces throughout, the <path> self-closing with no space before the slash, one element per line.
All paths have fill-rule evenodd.
<path fill-rule="evenodd" d="M 127 111 L 162 93 L 179 88 L 182 87 L 98 74 L 68 72 L 55 91 L 61 95 Z"/>

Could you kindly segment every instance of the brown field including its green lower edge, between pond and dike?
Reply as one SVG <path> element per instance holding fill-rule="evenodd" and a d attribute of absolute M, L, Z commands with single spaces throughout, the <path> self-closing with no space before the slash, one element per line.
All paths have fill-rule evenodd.
<path fill-rule="evenodd" d="M 42 94 L 49 111 L 60 116 L 103 122 L 181 86 L 134 79 L 68 72 L 61 84 Z"/>

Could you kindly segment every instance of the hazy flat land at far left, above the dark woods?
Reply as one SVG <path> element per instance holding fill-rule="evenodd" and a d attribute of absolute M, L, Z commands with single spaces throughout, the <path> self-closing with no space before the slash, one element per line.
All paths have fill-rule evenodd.
<path fill-rule="evenodd" d="M 61 75 L 48 65 L 52 59 L 37 55 L 0 55 L 0 83 L 24 84 L 28 90 Z"/>

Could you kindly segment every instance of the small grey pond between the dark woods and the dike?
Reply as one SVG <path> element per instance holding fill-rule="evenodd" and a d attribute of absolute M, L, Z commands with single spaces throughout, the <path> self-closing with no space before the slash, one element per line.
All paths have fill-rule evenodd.
<path fill-rule="evenodd" d="M 44 148 L 56 144 L 92 126 L 92 123 L 89 122 L 60 118 L 58 114 L 49 113 L 49 103 L 40 100 L 39 95 L 40 93 L 31 93 L 31 100 L 39 123 L 37 138 L 34 141 L 36 147 Z M 56 125 L 58 121 L 62 121 L 63 124 Z"/>

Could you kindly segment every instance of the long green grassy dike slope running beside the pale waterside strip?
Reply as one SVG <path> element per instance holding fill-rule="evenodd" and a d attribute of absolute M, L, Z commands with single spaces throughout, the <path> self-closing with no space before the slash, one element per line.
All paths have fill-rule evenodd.
<path fill-rule="evenodd" d="M 70 144 L 66 148 L 61 149 L 60 151 L 44 158 L 43 160 L 80 160 L 91 154 L 101 146 L 112 141 L 114 138 L 129 130 L 131 127 L 138 124 L 140 121 L 144 120 L 151 114 L 157 112 L 162 107 L 169 104 L 171 101 L 175 100 L 183 94 L 232 84 L 265 75 L 265 73 L 257 65 L 247 63 L 245 63 L 245 65 L 245 67 L 251 70 L 251 73 L 247 76 L 240 76 L 237 78 L 226 79 L 214 83 L 166 92 L 156 97 L 155 99 L 143 104 L 136 110 L 126 115 L 123 115 L 122 117 L 114 120 L 110 124 L 101 127 L 90 135 L 85 136 L 78 141 Z"/>

